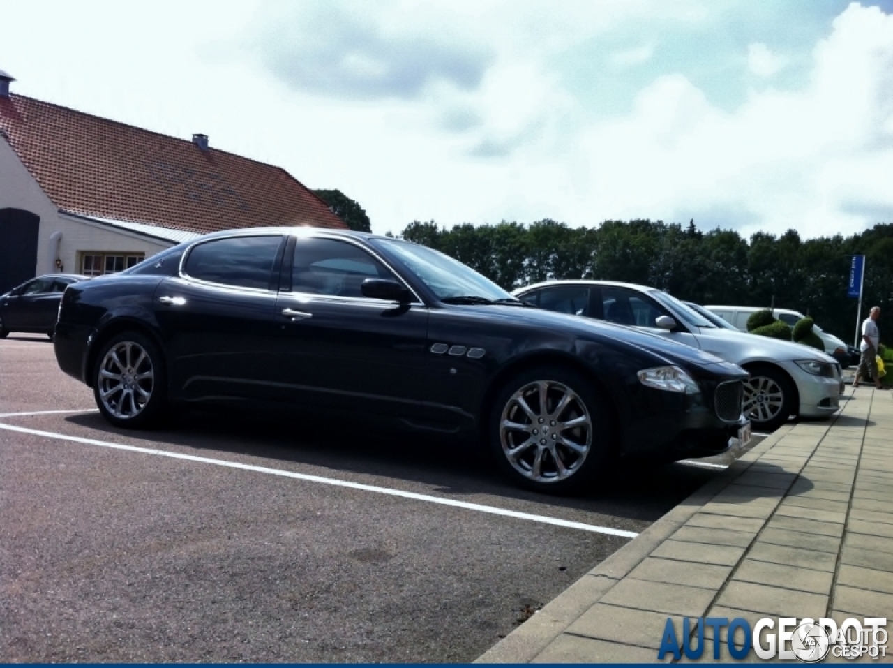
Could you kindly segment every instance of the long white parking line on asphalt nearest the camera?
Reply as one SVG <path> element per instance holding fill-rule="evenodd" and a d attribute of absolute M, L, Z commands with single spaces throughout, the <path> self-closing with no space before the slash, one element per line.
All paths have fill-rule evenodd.
<path fill-rule="evenodd" d="M 22 434 L 31 434 L 33 436 L 43 436 L 46 438 L 58 438 L 59 440 L 67 440 L 73 443 L 83 443 L 88 446 L 111 447 L 115 450 L 127 450 L 129 452 L 143 453 L 144 455 L 159 455 L 163 457 L 172 457 L 173 459 L 185 459 L 189 462 L 211 463 L 217 466 L 226 466 L 230 469 L 241 469 L 242 471 L 254 471 L 258 473 L 267 473 L 270 475 L 279 475 L 284 478 L 294 478 L 296 480 L 305 480 L 307 482 L 320 482 L 324 485 L 333 485 L 335 487 L 346 487 L 351 489 L 359 489 L 365 492 L 374 492 L 376 494 L 385 494 L 391 497 L 410 498 L 415 501 L 425 501 L 430 504 L 450 505 L 455 508 L 464 508 L 465 510 L 475 510 L 479 513 L 488 513 L 494 515 L 503 515 L 505 517 L 513 517 L 516 520 L 530 520 L 531 522 L 541 522 L 543 524 L 552 524 L 554 526 L 563 527 L 565 529 L 578 529 L 581 531 L 591 531 L 593 533 L 604 533 L 609 536 L 620 536 L 625 539 L 634 539 L 638 533 L 633 531 L 623 531 L 619 529 L 611 529 L 610 527 L 598 527 L 592 524 L 584 524 L 582 522 L 569 522 L 567 520 L 557 520 L 554 517 L 546 517 L 545 515 L 535 515 L 530 513 L 519 513 L 514 510 L 505 510 L 505 508 L 497 508 L 492 505 L 470 504 L 465 501 L 455 501 L 449 498 L 429 497 L 424 494 L 415 494 L 414 492 L 405 492 L 400 489 L 390 489 L 385 487 L 375 487 L 373 485 L 363 485 L 359 482 L 350 482 L 348 480 L 337 480 L 334 478 L 322 478 L 321 476 L 308 475 L 307 473 L 296 473 L 291 471 L 281 471 L 280 469 L 269 469 L 265 466 L 253 466 L 246 463 L 226 462 L 221 459 L 210 459 L 208 457 L 196 457 L 195 455 L 180 455 L 179 453 L 167 452 L 165 450 L 154 450 L 148 447 L 124 446 L 120 443 L 107 443 L 93 438 L 80 438 L 78 436 L 68 436 L 66 434 L 56 434 L 52 431 L 40 431 L 27 429 L 25 427 L 16 427 L 12 424 L 0 423 L 0 429 L 9 431 L 18 431 Z"/>

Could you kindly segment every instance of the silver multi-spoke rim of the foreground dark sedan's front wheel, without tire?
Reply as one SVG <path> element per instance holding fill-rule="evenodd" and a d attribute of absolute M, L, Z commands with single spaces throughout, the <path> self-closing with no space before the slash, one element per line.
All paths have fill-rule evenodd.
<path fill-rule="evenodd" d="M 586 461 L 592 419 L 571 388 L 555 380 L 535 380 L 505 403 L 499 438 L 515 471 L 535 482 L 558 482 Z"/>

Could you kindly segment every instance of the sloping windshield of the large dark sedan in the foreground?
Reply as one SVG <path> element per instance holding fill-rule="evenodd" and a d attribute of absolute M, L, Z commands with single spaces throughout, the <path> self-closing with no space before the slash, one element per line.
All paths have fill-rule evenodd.
<path fill-rule="evenodd" d="M 396 255 L 440 300 L 466 297 L 466 303 L 472 304 L 518 301 L 492 280 L 436 250 L 401 239 L 375 239 L 375 243 Z"/>

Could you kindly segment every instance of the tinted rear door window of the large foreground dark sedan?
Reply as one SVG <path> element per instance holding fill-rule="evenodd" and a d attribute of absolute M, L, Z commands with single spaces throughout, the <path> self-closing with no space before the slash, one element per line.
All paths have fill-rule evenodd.
<path fill-rule="evenodd" d="M 186 259 L 189 277 L 235 288 L 269 289 L 281 236 L 231 237 L 195 246 Z"/>

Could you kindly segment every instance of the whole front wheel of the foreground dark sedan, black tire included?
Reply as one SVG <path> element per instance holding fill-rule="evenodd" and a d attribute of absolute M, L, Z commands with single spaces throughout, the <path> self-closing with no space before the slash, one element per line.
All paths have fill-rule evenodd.
<path fill-rule="evenodd" d="M 563 397 L 566 404 L 559 409 Z M 574 426 L 562 429 L 570 422 Z M 507 477 L 547 494 L 586 488 L 605 472 L 614 449 L 610 413 L 596 388 L 580 372 L 547 365 L 520 372 L 500 388 L 487 442 Z"/>

